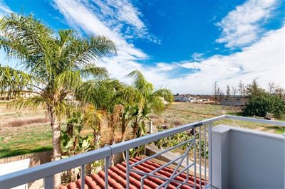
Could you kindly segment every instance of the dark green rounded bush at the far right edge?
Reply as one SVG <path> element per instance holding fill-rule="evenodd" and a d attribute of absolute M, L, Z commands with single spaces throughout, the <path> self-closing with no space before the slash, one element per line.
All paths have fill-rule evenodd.
<path fill-rule="evenodd" d="M 277 119 L 285 117 L 285 101 L 278 95 L 262 94 L 251 97 L 245 105 L 244 116 L 265 117 L 266 113 L 274 114 Z"/>

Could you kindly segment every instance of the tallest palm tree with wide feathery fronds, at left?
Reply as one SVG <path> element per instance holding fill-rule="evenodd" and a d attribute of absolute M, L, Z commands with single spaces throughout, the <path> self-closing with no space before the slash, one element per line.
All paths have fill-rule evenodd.
<path fill-rule="evenodd" d="M 72 30 L 54 33 L 30 16 L 11 13 L 0 21 L 0 47 L 9 58 L 19 60 L 21 70 L 0 65 L 1 91 L 9 94 L 30 92 L 19 106 L 46 107 L 53 134 L 53 161 L 61 158 L 61 119 L 68 110 L 66 97 L 75 94 L 83 79 L 106 76 L 93 63 L 115 53 L 115 44 L 104 36 L 78 38 Z M 55 188 L 61 183 L 56 175 Z"/>

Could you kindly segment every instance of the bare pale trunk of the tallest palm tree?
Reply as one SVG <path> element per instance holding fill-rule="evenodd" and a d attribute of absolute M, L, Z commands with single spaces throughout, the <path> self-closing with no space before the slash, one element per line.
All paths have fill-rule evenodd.
<path fill-rule="evenodd" d="M 53 106 L 48 107 L 48 114 L 53 133 L 53 161 L 57 161 L 61 159 L 61 126 Z M 61 185 L 61 173 L 54 175 L 53 182 L 53 188 L 59 188 Z"/>

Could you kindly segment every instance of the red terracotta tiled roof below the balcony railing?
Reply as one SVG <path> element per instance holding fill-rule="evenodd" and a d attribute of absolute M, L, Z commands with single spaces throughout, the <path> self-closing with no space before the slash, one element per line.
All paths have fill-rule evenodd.
<path fill-rule="evenodd" d="M 142 160 L 142 158 L 131 158 L 130 164 L 136 163 L 138 161 Z M 133 167 L 134 170 L 150 173 L 154 171 L 155 169 L 159 168 L 161 165 L 159 163 L 155 163 L 153 161 L 145 161 L 144 163 L 140 163 L 138 166 Z M 172 176 L 172 173 L 175 170 L 172 168 L 162 168 L 160 171 L 156 171 L 155 175 L 160 176 L 161 178 L 170 178 Z M 179 171 L 176 171 L 175 173 L 179 173 Z M 127 182 L 126 182 L 126 163 L 122 162 L 120 164 L 117 164 L 116 166 L 113 166 L 108 169 L 108 188 L 110 189 L 123 189 L 126 188 Z M 130 172 L 130 189 L 140 188 L 140 181 L 141 181 L 142 175 L 138 173 Z M 185 182 L 187 178 L 186 173 L 181 173 L 180 175 L 177 175 L 175 177 L 175 180 L 178 180 L 180 182 Z M 189 180 L 187 180 L 187 183 L 190 185 L 195 185 L 195 178 L 192 175 L 188 175 Z M 90 176 L 85 177 L 85 188 L 90 189 L 102 189 L 105 188 L 105 173 L 103 171 L 99 171 L 98 174 L 91 174 Z M 165 183 L 165 180 L 160 178 L 155 178 L 153 176 L 147 176 L 143 180 L 143 188 L 144 189 L 152 189 L 157 188 L 162 183 Z M 204 180 L 201 180 L 201 186 L 204 187 L 205 182 Z M 175 181 L 170 182 L 170 184 L 167 186 L 167 188 L 174 189 L 177 188 L 177 186 L 180 186 L 180 183 L 177 183 Z M 59 189 L 77 189 L 81 188 L 81 179 L 76 180 L 75 183 L 68 183 L 68 185 L 61 185 Z M 182 189 L 192 189 L 189 185 L 182 185 L 180 186 Z M 201 188 L 199 185 L 199 178 L 197 178 L 197 184 L 196 188 Z"/>

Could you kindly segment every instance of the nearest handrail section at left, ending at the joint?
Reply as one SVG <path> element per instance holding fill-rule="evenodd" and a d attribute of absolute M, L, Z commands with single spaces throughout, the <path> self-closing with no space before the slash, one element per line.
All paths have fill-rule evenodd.
<path fill-rule="evenodd" d="M 55 175 L 71 168 L 76 168 L 82 164 L 88 164 L 90 162 L 100 160 L 110 156 L 110 148 L 99 148 L 94 151 L 88 151 L 81 153 L 73 157 L 64 158 L 58 161 L 50 163 L 44 163 L 40 166 L 33 168 L 27 168 L 14 173 L 1 175 L 1 189 L 14 188 L 18 185 L 30 183 L 34 180 L 46 178 L 47 175 Z"/>

